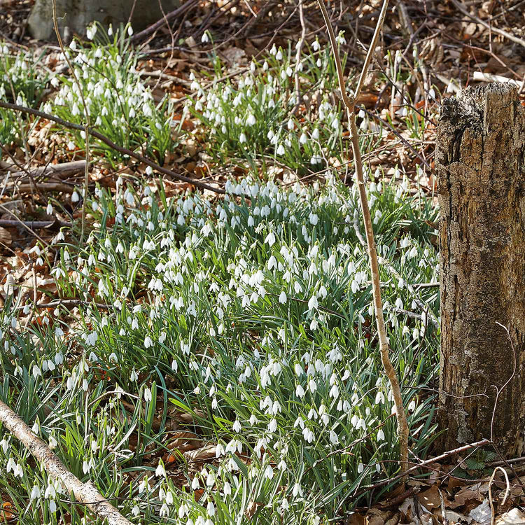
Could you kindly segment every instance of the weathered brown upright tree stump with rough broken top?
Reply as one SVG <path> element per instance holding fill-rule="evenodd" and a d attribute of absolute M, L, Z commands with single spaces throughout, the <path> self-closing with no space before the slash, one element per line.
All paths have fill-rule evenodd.
<path fill-rule="evenodd" d="M 435 153 L 444 450 L 493 436 L 504 456 L 525 452 L 524 155 L 516 87 L 444 100 Z"/>

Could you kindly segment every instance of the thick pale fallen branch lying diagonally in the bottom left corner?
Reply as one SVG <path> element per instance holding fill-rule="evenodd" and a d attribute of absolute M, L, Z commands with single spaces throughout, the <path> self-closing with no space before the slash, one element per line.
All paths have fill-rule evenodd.
<path fill-rule="evenodd" d="M 79 503 L 86 505 L 102 521 L 109 525 L 132 525 L 111 503 L 102 496 L 91 482 L 83 483 L 73 475 L 58 456 L 50 450 L 40 437 L 31 432 L 31 428 L 15 414 L 4 402 L 0 401 L 0 421 L 20 442 L 43 464 L 48 475 L 59 479 L 69 493 L 73 493 Z"/>

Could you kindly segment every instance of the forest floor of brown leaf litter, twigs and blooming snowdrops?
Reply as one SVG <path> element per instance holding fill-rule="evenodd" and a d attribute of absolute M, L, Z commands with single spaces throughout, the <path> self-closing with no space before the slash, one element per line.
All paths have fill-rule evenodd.
<path fill-rule="evenodd" d="M 188 2 L 149 34 L 92 27 L 65 56 L 28 36 L 31 5 L 0 10 L 0 400 L 133 523 L 525 521 L 519 463 L 490 486 L 491 449 L 393 479 L 316 1 Z M 381 3 L 327 7 L 351 87 Z M 393 3 L 358 99 L 414 465 L 437 437 L 440 102 L 507 78 L 525 104 L 524 9 Z M 0 522 L 102 525 L 5 428 L 0 471 Z"/>

